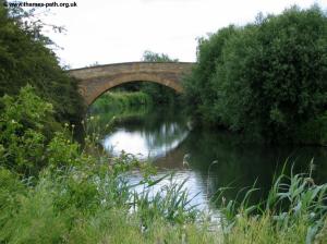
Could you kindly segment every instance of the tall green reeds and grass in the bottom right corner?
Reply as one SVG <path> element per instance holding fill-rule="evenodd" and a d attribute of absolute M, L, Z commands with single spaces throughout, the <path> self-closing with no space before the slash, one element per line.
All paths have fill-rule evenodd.
<path fill-rule="evenodd" d="M 223 199 L 222 231 L 227 243 L 326 243 L 327 184 L 307 174 L 283 174 L 274 180 L 267 199 L 247 205 L 250 188 L 240 202 Z M 324 241 L 325 240 L 325 241 Z"/>

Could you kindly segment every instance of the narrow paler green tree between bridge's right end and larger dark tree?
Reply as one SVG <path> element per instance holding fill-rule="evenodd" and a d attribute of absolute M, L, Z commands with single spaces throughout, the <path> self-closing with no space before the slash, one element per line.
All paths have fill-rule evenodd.
<path fill-rule="evenodd" d="M 209 35 L 207 39 L 198 38 L 197 63 L 192 75 L 185 78 L 183 85 L 185 88 L 184 99 L 190 106 L 190 110 L 202 122 L 209 124 L 219 122 L 218 114 L 213 111 L 213 106 L 217 102 L 218 97 L 211 80 L 217 66 L 222 62 L 225 45 L 235 32 L 237 28 L 231 25 Z"/>

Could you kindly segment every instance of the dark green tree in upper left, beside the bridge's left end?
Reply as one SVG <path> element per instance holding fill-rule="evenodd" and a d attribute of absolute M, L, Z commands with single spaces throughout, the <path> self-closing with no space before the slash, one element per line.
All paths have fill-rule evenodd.
<path fill-rule="evenodd" d="M 9 11 L 0 0 L 0 96 L 15 95 L 31 84 L 53 105 L 58 121 L 76 123 L 83 114 L 76 81 L 60 68 L 43 26 L 28 27 L 28 14 L 17 11 Z"/>

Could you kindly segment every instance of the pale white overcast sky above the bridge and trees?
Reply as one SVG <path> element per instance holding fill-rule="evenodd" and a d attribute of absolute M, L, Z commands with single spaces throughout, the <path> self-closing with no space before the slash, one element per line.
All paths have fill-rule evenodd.
<path fill-rule="evenodd" d="M 193 62 L 196 38 L 223 26 L 244 25 L 253 22 L 258 12 L 280 13 L 292 4 L 308 8 L 318 3 L 327 8 L 327 0 L 75 1 L 76 8 L 51 8 L 46 19 L 65 26 L 65 34 L 47 35 L 62 48 L 55 50 L 71 68 L 140 61 L 145 50 Z"/>

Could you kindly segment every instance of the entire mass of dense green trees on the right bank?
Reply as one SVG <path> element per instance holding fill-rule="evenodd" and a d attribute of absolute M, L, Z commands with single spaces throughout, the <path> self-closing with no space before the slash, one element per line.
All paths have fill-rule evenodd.
<path fill-rule="evenodd" d="M 255 139 L 326 144 L 327 16 L 318 7 L 201 38 L 197 61 L 185 89 L 202 121 Z"/>

